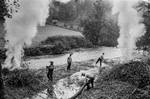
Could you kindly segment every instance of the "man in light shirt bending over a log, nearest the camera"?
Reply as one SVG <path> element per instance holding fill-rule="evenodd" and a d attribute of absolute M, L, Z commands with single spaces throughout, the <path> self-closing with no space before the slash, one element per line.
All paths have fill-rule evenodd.
<path fill-rule="evenodd" d="M 95 79 L 94 76 L 85 74 L 85 73 L 82 73 L 81 76 L 85 76 L 86 82 L 89 82 L 87 84 L 87 89 L 90 89 L 90 84 L 91 84 L 91 87 L 94 88 L 94 79 Z"/>

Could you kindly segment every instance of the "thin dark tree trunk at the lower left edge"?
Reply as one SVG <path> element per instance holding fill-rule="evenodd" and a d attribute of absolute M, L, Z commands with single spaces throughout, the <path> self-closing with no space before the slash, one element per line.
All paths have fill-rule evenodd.
<path fill-rule="evenodd" d="M 2 79 L 2 61 L 0 60 L 0 99 L 4 98 L 4 85 L 3 85 L 3 79 Z"/>

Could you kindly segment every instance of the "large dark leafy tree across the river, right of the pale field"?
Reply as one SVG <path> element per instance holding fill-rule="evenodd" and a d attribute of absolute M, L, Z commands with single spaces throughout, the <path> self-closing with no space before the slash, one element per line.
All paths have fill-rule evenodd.
<path fill-rule="evenodd" d="M 99 0 L 94 4 L 94 10 L 88 19 L 81 21 L 81 26 L 84 27 L 83 35 L 93 45 L 117 45 L 119 27 L 117 23 L 106 17 L 106 12 L 111 13 L 111 6 L 103 0 Z"/>

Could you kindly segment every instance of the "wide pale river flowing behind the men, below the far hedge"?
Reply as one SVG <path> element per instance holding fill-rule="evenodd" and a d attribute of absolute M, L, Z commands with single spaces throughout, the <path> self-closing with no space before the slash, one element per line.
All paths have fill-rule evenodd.
<path fill-rule="evenodd" d="M 105 53 L 104 58 L 121 57 L 121 50 L 113 47 L 89 48 L 79 52 L 74 52 L 72 55 L 73 62 L 81 62 L 90 59 L 98 58 L 102 53 Z M 50 58 L 29 60 L 27 63 L 31 69 L 40 69 L 49 65 L 49 61 L 54 61 L 54 65 L 63 65 L 67 63 L 69 54 L 54 55 Z"/>

